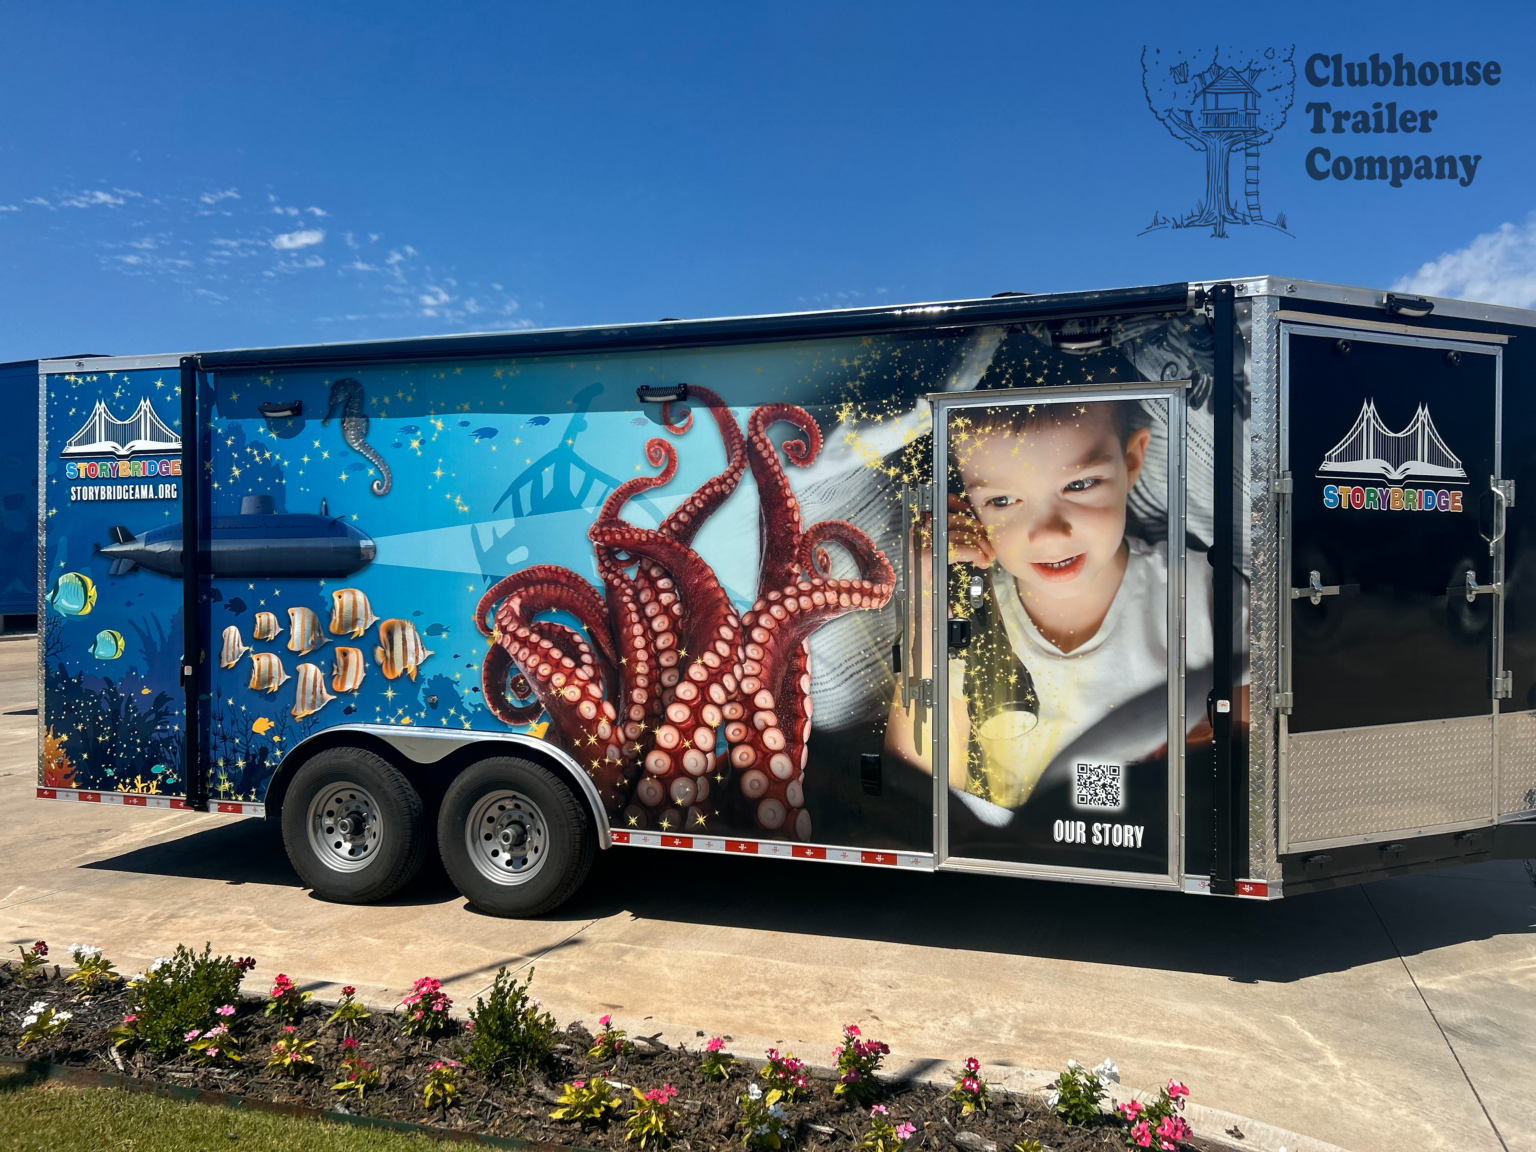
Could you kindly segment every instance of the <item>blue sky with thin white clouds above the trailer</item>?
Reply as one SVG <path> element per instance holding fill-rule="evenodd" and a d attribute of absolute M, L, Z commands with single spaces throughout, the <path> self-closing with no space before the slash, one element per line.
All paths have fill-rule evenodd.
<path fill-rule="evenodd" d="M 1536 304 L 1525 5 L 0 5 L 0 359 L 1278 275 Z M 1143 49 L 1295 46 L 1286 229 L 1160 229 Z M 1315 54 L 1498 60 L 1324 88 Z M 1435 109 L 1313 135 L 1307 101 Z M 1329 121 L 1332 123 L 1332 120 Z M 1481 155 L 1473 183 L 1307 152 Z M 1341 151 L 1342 146 L 1342 151 Z M 1241 201 L 1243 161 L 1233 160 Z"/>

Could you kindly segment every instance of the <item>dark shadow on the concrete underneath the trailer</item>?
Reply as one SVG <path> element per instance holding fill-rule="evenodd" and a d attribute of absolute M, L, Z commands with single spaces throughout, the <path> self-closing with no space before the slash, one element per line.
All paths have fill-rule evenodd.
<path fill-rule="evenodd" d="M 275 825 L 209 828 L 86 868 L 301 888 Z M 436 854 L 392 906 L 459 902 Z M 1378 920 L 1378 911 L 1381 920 Z M 467 909 L 475 915 L 473 909 Z M 545 917 L 639 920 L 886 940 L 1289 983 L 1467 940 L 1536 934 L 1536 888 L 1504 860 L 1275 903 L 1038 880 L 617 849 Z M 1382 931 L 1385 920 L 1392 935 Z M 465 925 L 465 931 L 473 931 Z M 793 940 L 771 946 L 791 948 Z"/>

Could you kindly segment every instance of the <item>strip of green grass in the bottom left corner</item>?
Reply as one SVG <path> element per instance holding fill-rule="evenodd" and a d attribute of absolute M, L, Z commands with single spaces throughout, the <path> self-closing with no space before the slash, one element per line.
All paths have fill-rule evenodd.
<path fill-rule="evenodd" d="M 0 1075 L 5 1152 L 442 1152 L 422 1135 Z M 455 1147 L 473 1147 L 456 1144 Z"/>

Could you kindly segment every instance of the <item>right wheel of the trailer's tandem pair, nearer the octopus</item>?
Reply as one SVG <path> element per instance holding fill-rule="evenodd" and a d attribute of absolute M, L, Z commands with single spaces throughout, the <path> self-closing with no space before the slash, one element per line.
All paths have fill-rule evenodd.
<path fill-rule="evenodd" d="M 438 813 L 438 851 L 472 905 L 492 915 L 527 917 L 561 906 L 581 888 L 596 837 L 585 803 L 559 776 L 496 756 L 449 785 Z"/>

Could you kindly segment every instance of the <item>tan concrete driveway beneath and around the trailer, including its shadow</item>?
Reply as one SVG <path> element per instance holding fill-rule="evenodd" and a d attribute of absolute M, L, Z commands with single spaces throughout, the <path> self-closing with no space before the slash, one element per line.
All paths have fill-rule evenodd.
<path fill-rule="evenodd" d="M 0 644 L 0 711 L 35 699 Z M 535 965 L 561 1017 L 733 1037 L 825 1063 L 840 1026 L 892 1064 L 1118 1061 L 1130 1086 L 1352 1152 L 1536 1152 L 1536 886 L 1519 862 L 1258 905 L 989 877 L 645 849 L 599 854 L 535 922 L 479 915 L 430 869 L 384 906 L 310 897 L 257 820 L 32 799 L 35 716 L 0 714 L 0 938 L 178 942 L 395 1003 L 436 975 L 462 1003 Z"/>

